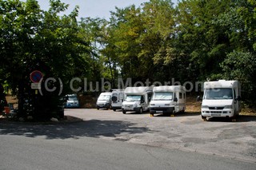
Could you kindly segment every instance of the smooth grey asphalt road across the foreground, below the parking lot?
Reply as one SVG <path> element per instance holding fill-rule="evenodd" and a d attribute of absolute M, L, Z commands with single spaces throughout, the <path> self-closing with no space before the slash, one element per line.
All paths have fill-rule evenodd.
<path fill-rule="evenodd" d="M 54 127 L 53 127 L 54 128 Z M 0 169 L 254 169 L 253 163 L 92 137 L 1 136 Z"/>

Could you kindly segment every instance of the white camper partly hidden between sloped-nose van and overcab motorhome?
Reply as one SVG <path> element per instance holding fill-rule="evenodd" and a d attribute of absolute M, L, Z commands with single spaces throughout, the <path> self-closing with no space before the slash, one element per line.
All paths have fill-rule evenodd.
<path fill-rule="evenodd" d="M 112 89 L 111 108 L 116 111 L 122 109 L 122 102 L 125 99 L 124 89 Z"/>

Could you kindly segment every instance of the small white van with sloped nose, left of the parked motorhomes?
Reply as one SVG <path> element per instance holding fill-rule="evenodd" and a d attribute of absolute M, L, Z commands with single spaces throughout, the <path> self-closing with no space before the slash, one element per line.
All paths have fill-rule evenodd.
<path fill-rule="evenodd" d="M 110 93 L 110 92 L 101 93 L 96 102 L 97 109 L 101 109 L 101 108 L 110 109 L 111 108 L 111 96 L 112 96 L 112 93 Z"/>

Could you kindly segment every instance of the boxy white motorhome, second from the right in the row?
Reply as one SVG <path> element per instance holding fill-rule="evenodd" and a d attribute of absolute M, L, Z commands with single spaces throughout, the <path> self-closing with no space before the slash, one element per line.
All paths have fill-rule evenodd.
<path fill-rule="evenodd" d="M 186 89 L 182 85 L 164 85 L 153 89 L 150 116 L 154 113 L 174 114 L 186 110 Z"/>

